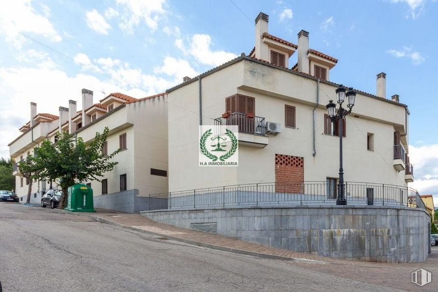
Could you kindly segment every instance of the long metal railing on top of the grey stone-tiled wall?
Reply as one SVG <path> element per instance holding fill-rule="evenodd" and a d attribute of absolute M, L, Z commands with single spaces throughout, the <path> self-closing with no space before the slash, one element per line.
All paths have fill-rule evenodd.
<path fill-rule="evenodd" d="M 149 210 L 246 206 L 335 205 L 338 185 L 326 182 L 220 186 L 149 195 Z M 407 186 L 345 183 L 348 204 L 413 207 L 418 192 Z M 421 200 L 420 200 L 421 201 Z M 415 207 L 423 208 L 420 201 Z M 422 201 L 421 201 L 422 202 Z M 424 204 L 423 204 L 424 205 Z"/>

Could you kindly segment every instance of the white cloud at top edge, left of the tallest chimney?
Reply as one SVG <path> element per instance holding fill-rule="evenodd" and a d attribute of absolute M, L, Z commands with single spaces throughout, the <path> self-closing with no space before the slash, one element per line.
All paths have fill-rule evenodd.
<path fill-rule="evenodd" d="M 152 31 L 155 31 L 158 21 L 166 13 L 163 8 L 165 0 L 116 0 L 116 2 L 124 7 L 119 27 L 128 34 L 134 33 L 134 28 L 140 24 L 141 20 Z"/>

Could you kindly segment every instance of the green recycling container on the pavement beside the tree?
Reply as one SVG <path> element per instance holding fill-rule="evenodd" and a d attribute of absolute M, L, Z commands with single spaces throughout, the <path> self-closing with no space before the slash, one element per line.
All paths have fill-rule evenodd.
<path fill-rule="evenodd" d="M 70 186 L 67 191 L 67 208 L 71 212 L 96 212 L 93 206 L 93 189 L 85 185 Z"/>

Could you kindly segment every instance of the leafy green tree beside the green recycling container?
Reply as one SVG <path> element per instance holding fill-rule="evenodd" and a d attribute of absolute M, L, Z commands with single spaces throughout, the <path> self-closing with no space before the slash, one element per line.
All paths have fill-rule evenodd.
<path fill-rule="evenodd" d="M 34 155 L 19 163 L 23 176 L 29 174 L 31 179 L 57 182 L 62 188 L 59 209 L 64 209 L 67 202 L 67 188 L 87 180 L 100 181 L 105 172 L 111 171 L 118 162 L 111 159 L 120 152 L 117 149 L 109 155 L 102 152 L 108 138 L 109 129 L 105 127 L 102 134 L 96 133 L 94 139 L 85 143 L 82 137 L 75 138 L 69 133 L 59 134 L 55 143 L 43 141 L 34 149 Z M 30 200 L 30 195 L 28 194 Z"/>

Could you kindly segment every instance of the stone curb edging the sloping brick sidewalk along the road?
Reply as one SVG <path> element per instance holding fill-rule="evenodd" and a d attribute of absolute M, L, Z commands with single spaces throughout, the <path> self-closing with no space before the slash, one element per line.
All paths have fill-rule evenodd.
<path fill-rule="evenodd" d="M 138 228 L 135 228 L 135 227 L 132 227 L 132 226 L 120 224 L 120 223 L 117 223 L 117 222 L 114 222 L 114 221 L 110 221 L 108 219 L 104 219 L 104 218 L 101 218 L 101 217 L 98 217 L 98 216 L 92 216 L 92 215 L 84 214 L 84 212 L 76 213 L 76 212 L 70 212 L 70 211 L 65 211 L 65 210 L 60 210 L 60 209 L 53 209 L 52 211 L 54 211 L 56 213 L 63 213 L 63 214 L 82 215 L 82 216 L 88 217 L 90 219 L 93 219 L 94 221 L 105 223 L 105 224 L 108 224 L 108 225 L 113 225 L 113 226 L 121 227 L 121 228 L 124 228 L 124 229 L 129 229 L 129 230 L 133 230 L 133 231 L 137 231 L 137 232 L 141 232 L 141 233 L 145 233 L 145 234 L 151 234 L 151 235 L 155 235 L 155 236 L 159 236 L 159 237 L 165 237 L 165 238 L 168 238 L 168 239 L 172 239 L 172 240 L 175 240 L 175 241 L 187 243 L 187 244 L 190 244 L 190 245 L 196 245 L 196 246 L 216 249 L 216 250 L 220 250 L 220 251 L 232 252 L 232 253 L 235 253 L 235 254 L 253 256 L 253 257 L 262 258 L 262 259 L 272 259 L 272 260 L 301 262 L 301 263 L 305 262 L 305 263 L 314 263 L 314 264 L 317 264 L 317 263 L 318 264 L 328 264 L 328 262 L 322 262 L 322 261 L 317 261 L 317 260 L 308 260 L 308 259 L 289 258 L 289 257 L 283 257 L 283 256 L 276 256 L 276 255 L 270 255 L 270 254 L 258 253 L 258 252 L 253 252 L 253 251 L 247 251 L 247 250 L 243 250 L 243 249 L 226 247 L 226 246 L 221 246 L 221 245 L 216 245 L 216 244 L 211 244 L 211 243 L 205 243 L 205 242 L 201 242 L 201 241 L 194 241 L 194 240 L 190 240 L 190 239 L 182 239 L 182 238 L 175 237 L 175 236 L 163 235 L 161 233 L 156 233 L 156 232 L 147 231 L 147 230 L 138 229 Z"/>

